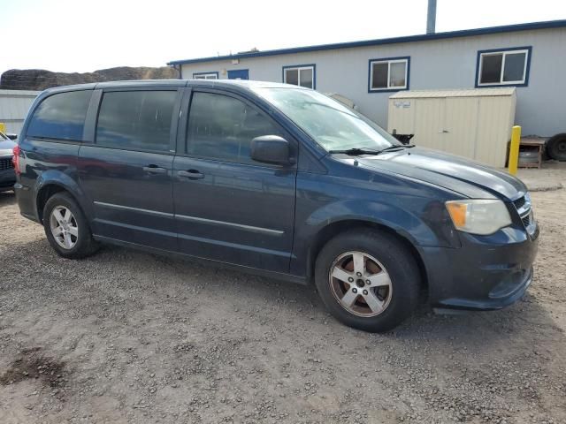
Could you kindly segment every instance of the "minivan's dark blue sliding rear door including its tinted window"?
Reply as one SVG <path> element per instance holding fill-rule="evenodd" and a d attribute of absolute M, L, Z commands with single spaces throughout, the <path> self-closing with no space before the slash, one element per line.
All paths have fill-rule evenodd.
<path fill-rule="evenodd" d="M 143 88 L 103 92 L 96 142 L 79 150 L 80 184 L 94 205 L 96 235 L 175 250 L 172 118 L 180 92 Z"/>

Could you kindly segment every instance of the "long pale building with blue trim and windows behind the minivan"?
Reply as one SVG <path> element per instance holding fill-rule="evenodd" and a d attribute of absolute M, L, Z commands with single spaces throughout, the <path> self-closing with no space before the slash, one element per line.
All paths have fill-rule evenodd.
<path fill-rule="evenodd" d="M 174 60 L 183 79 L 258 79 L 352 99 L 387 126 L 400 90 L 516 87 L 523 134 L 566 133 L 566 20 Z M 563 139 L 566 143 L 566 135 Z M 565 144 L 566 146 L 566 144 Z"/>

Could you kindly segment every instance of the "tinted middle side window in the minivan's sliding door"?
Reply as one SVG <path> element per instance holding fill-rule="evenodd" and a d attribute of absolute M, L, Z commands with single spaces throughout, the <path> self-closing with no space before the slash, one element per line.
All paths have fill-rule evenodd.
<path fill-rule="evenodd" d="M 104 93 L 96 144 L 111 148 L 169 151 L 177 91 Z"/>

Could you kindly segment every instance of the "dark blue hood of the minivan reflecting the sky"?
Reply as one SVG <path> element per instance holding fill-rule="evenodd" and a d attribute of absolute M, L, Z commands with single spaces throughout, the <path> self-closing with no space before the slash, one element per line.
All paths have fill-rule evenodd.
<path fill-rule="evenodd" d="M 427 148 L 358 157 L 357 162 L 371 170 L 386 170 L 416 178 L 470 198 L 486 199 L 491 194 L 514 201 L 527 191 L 521 180 L 503 170 Z"/>

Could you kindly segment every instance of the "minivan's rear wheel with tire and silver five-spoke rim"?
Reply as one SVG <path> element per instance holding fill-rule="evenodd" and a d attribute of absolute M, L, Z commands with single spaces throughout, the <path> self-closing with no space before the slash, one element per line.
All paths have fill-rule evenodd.
<path fill-rule="evenodd" d="M 45 203 L 43 228 L 51 247 L 59 256 L 81 259 L 98 250 L 98 243 L 92 237 L 87 219 L 68 193 L 55 193 Z"/>

